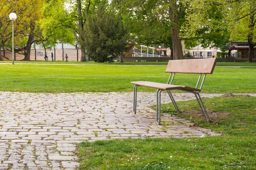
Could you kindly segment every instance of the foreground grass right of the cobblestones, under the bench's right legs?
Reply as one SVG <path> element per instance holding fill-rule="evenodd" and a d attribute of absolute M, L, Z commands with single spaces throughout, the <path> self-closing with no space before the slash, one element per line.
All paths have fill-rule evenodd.
<path fill-rule="evenodd" d="M 254 170 L 256 168 L 256 97 L 204 99 L 215 122 L 195 120 L 223 136 L 203 138 L 123 139 L 83 142 L 79 145 L 80 170 Z M 213 104 L 214 103 L 214 104 Z M 196 101 L 177 102 L 186 111 L 198 111 Z M 172 104 L 163 111 L 174 110 Z M 186 112 L 183 110 L 183 112 Z M 172 113 L 172 112 L 171 112 Z M 194 116 L 195 117 L 195 116 Z M 140 159 L 139 159 L 140 158 Z"/>

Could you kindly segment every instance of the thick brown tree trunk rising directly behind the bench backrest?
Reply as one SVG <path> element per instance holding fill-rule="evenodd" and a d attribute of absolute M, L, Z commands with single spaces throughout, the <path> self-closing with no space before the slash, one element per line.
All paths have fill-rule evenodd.
<path fill-rule="evenodd" d="M 173 59 L 183 59 L 183 51 L 181 47 L 181 40 L 179 38 L 179 14 L 176 0 L 171 0 L 171 6 L 169 7 L 169 16 L 172 22 L 172 48 Z"/>

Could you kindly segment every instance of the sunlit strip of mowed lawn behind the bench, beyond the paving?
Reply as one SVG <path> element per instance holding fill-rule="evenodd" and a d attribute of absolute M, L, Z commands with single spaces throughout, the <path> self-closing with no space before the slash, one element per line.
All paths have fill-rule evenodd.
<path fill-rule="evenodd" d="M 0 65 L 0 91 L 133 91 L 131 81 L 166 83 L 165 69 L 166 65 Z M 203 93 L 255 93 L 255 71 L 256 67 L 216 67 L 207 75 Z M 177 74 L 173 84 L 195 87 L 197 79 L 198 74 Z"/>

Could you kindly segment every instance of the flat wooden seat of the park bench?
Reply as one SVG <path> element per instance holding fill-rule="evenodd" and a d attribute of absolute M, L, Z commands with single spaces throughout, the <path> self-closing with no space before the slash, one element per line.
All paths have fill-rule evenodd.
<path fill-rule="evenodd" d="M 198 92 L 201 91 L 200 89 L 191 88 L 188 86 L 169 85 L 169 84 L 158 83 L 158 82 L 139 81 L 139 82 L 131 82 L 131 84 L 145 86 L 145 87 L 149 87 L 149 88 L 157 88 L 157 89 L 161 89 L 161 90 L 188 90 L 188 91 L 198 91 Z"/>

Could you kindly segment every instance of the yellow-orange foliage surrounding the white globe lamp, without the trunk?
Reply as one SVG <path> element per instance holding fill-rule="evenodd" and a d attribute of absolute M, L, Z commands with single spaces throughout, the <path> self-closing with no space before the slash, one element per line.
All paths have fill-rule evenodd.
<path fill-rule="evenodd" d="M 12 21 L 9 14 L 14 12 L 17 19 L 14 20 L 15 44 L 20 44 L 26 38 L 33 20 L 40 11 L 35 10 L 34 5 L 41 0 L 1 0 L 0 1 L 0 49 L 5 46 L 12 47 Z M 35 11 L 34 11 L 35 10 Z M 3 60 L 0 54 L 0 60 Z"/>

